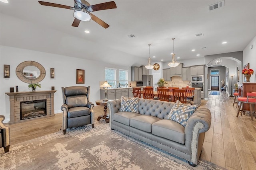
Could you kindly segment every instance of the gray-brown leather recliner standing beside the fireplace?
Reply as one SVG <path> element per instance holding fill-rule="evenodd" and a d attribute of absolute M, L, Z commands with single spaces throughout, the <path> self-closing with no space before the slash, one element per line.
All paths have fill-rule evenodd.
<path fill-rule="evenodd" d="M 62 87 L 63 134 L 66 129 L 92 124 L 94 127 L 94 104 L 90 102 L 90 86 Z"/>

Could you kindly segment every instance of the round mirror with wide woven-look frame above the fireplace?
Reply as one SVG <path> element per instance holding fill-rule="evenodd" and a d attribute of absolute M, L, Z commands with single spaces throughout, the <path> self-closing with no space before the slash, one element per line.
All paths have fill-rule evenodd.
<path fill-rule="evenodd" d="M 16 68 L 16 75 L 25 83 L 38 83 L 45 77 L 44 67 L 35 61 L 24 61 Z"/>

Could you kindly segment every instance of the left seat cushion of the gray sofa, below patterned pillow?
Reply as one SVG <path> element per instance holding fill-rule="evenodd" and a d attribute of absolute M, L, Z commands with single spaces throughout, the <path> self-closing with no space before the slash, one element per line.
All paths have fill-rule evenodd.
<path fill-rule="evenodd" d="M 130 118 L 139 116 L 139 113 L 133 113 L 128 111 L 121 111 L 118 113 L 114 113 L 113 120 L 118 121 L 119 123 L 123 123 L 127 126 L 130 125 Z"/>

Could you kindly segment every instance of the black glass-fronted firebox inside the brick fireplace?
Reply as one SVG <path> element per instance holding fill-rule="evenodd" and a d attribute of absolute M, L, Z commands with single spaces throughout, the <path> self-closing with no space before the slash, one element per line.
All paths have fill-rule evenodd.
<path fill-rule="evenodd" d="M 46 115 L 46 100 L 20 102 L 20 120 Z"/>

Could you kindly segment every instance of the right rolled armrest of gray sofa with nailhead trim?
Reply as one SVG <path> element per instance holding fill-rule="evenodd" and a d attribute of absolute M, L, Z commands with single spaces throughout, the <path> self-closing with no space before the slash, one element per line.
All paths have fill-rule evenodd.
<path fill-rule="evenodd" d="M 188 119 L 185 127 L 185 146 L 191 150 L 191 162 L 197 164 L 200 156 L 204 133 L 210 129 L 212 115 L 207 107 L 198 107 Z M 200 133 L 203 136 L 199 139 Z M 202 140 L 202 141 L 201 141 Z"/>

